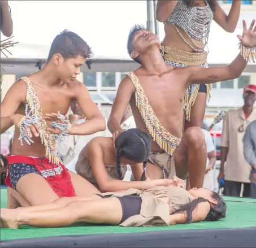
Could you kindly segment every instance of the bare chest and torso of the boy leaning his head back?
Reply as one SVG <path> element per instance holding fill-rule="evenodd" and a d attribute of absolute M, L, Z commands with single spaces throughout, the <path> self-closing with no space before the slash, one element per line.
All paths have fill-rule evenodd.
<path fill-rule="evenodd" d="M 183 70 L 167 66 L 167 71 L 160 77 L 146 75 L 141 67 L 134 71 L 160 124 L 177 138 L 181 138 L 183 133 L 183 99 L 187 82 Z M 130 105 L 137 128 L 149 133 L 136 106 L 134 94 Z M 151 150 L 162 151 L 154 141 Z"/>

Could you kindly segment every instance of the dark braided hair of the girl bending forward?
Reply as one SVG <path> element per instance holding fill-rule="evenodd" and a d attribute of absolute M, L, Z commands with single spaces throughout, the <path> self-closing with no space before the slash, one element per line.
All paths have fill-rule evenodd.
<path fill-rule="evenodd" d="M 150 137 L 140 129 L 132 128 L 120 133 L 115 140 L 116 173 L 122 179 L 121 156 L 134 162 L 143 162 L 141 181 L 146 180 L 146 160 L 151 149 Z"/>

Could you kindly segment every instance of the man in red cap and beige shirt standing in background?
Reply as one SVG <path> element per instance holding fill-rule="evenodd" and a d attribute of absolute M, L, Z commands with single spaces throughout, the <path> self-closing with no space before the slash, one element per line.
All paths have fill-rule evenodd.
<path fill-rule="evenodd" d="M 233 197 L 240 196 L 242 184 L 244 184 L 242 196 L 251 197 L 251 166 L 245 160 L 242 139 L 248 124 L 256 120 L 256 110 L 253 109 L 256 100 L 256 85 L 246 85 L 243 98 L 244 106 L 237 110 L 229 110 L 223 120 L 218 180 L 225 180 L 224 194 Z"/>

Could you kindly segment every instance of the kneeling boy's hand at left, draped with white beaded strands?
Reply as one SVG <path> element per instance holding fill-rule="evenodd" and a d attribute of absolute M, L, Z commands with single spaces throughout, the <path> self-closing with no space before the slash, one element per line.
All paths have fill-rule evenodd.
<path fill-rule="evenodd" d="M 21 145 L 23 145 L 23 139 L 28 143 L 28 145 L 31 145 L 31 143 L 33 143 L 32 137 L 40 136 L 38 116 L 31 115 L 29 117 L 26 117 L 24 115 L 15 114 L 12 115 L 10 118 L 15 127 L 19 128 L 20 130 L 19 140 Z"/>

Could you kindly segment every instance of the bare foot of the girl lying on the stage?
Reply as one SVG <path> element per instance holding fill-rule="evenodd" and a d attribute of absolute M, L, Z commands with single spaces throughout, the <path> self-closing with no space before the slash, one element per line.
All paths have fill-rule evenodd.
<path fill-rule="evenodd" d="M 0 221 L 0 227 L 8 227 L 12 229 L 18 229 L 19 224 L 17 221 L 17 214 L 16 210 L 11 210 L 8 208 L 1 208 L 1 221 Z"/>

